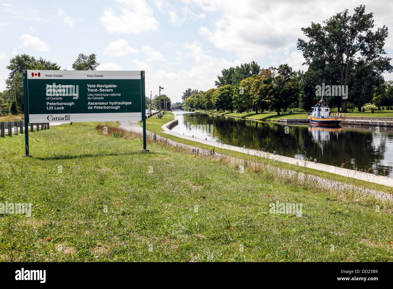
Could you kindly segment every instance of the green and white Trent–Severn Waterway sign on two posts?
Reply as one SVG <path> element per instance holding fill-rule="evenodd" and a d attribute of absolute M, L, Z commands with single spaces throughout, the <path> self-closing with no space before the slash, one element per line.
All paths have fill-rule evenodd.
<path fill-rule="evenodd" d="M 144 71 L 24 70 L 23 88 L 26 124 L 143 120 L 146 150 Z"/>

